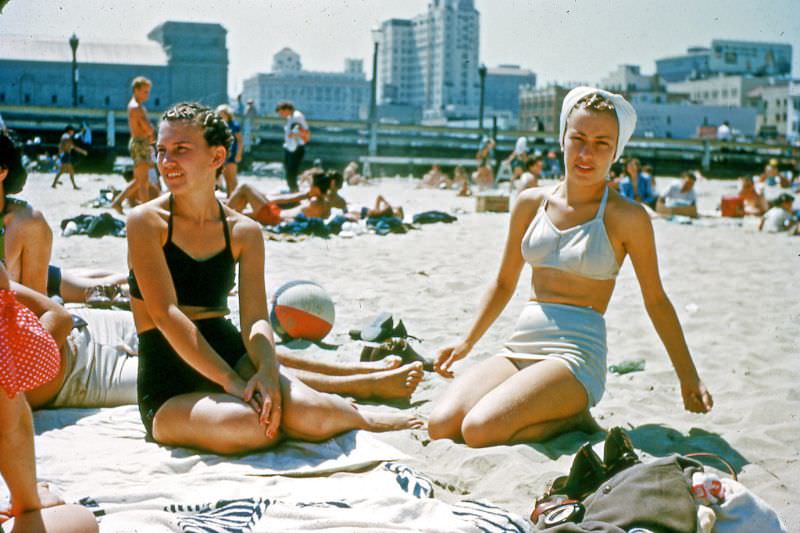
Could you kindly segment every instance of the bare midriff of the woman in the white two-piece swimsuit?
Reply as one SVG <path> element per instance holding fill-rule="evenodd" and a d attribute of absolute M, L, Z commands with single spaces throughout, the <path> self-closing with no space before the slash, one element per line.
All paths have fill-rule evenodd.
<path fill-rule="evenodd" d="M 531 300 L 590 307 L 606 312 L 615 280 L 586 278 L 555 268 L 538 267 L 531 276 Z"/>

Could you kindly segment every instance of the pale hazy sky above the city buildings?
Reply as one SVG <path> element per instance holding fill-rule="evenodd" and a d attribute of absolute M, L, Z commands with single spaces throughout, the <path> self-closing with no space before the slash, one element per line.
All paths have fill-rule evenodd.
<path fill-rule="evenodd" d="M 2 4 L 2 1 L 0 1 Z M 341 71 L 344 59 L 371 68 L 370 29 L 412 18 L 428 0 L 10 0 L 0 32 L 113 42 L 143 41 L 166 20 L 217 22 L 228 30 L 231 95 L 242 80 L 269 72 L 290 47 L 308 70 Z M 782 42 L 800 77 L 800 0 L 475 0 L 480 59 L 517 64 L 538 85 L 597 83 L 620 64 L 655 72 L 655 60 L 711 39 Z M 0 50 L 0 57 L 2 57 Z M 80 61 L 80 49 L 79 49 Z M 368 72 L 367 76 L 371 74 Z"/>

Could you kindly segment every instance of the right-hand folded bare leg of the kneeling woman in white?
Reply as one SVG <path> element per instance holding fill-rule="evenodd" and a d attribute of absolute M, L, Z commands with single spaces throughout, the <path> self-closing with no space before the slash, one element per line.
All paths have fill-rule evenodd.
<path fill-rule="evenodd" d="M 461 434 L 467 445 L 482 447 L 542 441 L 575 429 L 598 431 L 588 409 L 586 389 L 569 368 L 544 360 L 519 370 L 481 398 L 464 417 Z"/>

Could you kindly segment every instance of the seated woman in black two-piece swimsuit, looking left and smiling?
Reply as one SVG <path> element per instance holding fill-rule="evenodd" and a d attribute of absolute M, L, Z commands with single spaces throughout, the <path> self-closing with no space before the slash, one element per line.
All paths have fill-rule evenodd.
<path fill-rule="evenodd" d="M 170 194 L 128 216 L 139 411 L 148 438 L 237 454 L 282 436 L 321 441 L 352 429 L 420 427 L 415 416 L 356 409 L 281 369 L 261 228 L 214 195 L 230 143 L 230 130 L 209 108 L 180 103 L 164 112 L 157 159 Z M 241 332 L 226 318 L 236 279 Z"/>

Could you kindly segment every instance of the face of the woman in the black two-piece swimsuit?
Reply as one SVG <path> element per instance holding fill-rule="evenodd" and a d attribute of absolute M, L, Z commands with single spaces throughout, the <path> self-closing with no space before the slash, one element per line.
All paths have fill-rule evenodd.
<path fill-rule="evenodd" d="M 202 184 L 213 190 L 216 170 L 225 160 L 225 148 L 209 146 L 203 130 L 189 122 L 163 121 L 156 152 L 158 171 L 172 193 Z"/>

